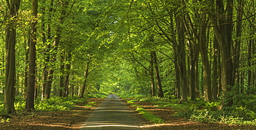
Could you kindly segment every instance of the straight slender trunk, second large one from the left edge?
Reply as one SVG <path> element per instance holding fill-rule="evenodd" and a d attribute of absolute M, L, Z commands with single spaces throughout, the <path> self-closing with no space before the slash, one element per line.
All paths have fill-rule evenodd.
<path fill-rule="evenodd" d="M 26 111 L 35 111 L 34 100 L 35 100 L 35 68 L 36 68 L 36 48 L 37 44 L 37 0 L 32 1 L 33 21 L 31 23 L 30 30 L 30 46 L 29 46 L 29 57 L 28 57 L 28 89 L 26 95 Z"/>

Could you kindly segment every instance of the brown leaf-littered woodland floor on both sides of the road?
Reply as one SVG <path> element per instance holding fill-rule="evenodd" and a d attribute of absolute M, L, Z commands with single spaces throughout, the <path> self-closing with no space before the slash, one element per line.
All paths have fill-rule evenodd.
<path fill-rule="evenodd" d="M 97 102 L 100 104 L 102 99 L 91 98 L 88 102 Z M 86 104 L 86 103 L 85 103 Z M 96 106 L 89 107 L 85 104 L 77 104 L 71 111 L 35 111 L 33 113 L 15 113 L 11 115 L 9 122 L 0 122 L 0 129 L 7 130 L 64 130 L 80 129 L 80 126 L 89 118 L 89 115 Z M 256 129 L 256 126 L 236 126 L 221 123 L 203 124 L 183 120 L 174 116 L 174 109 L 165 107 L 164 109 L 156 108 L 155 104 L 149 102 L 137 102 L 147 111 L 162 118 L 164 124 L 154 124 L 144 120 L 142 116 L 134 112 L 134 116 L 140 119 L 140 129 Z M 130 110 L 136 107 L 129 106 Z"/>

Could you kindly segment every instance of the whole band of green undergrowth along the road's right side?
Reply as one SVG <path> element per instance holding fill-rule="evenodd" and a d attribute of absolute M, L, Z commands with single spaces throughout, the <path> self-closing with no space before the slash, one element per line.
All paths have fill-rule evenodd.
<path fill-rule="evenodd" d="M 238 95 L 237 95 L 238 96 Z M 195 101 L 189 100 L 183 104 L 178 104 L 179 99 L 174 97 L 143 97 L 140 95 L 134 96 L 135 100 L 131 96 L 126 97 L 122 95 L 124 99 L 131 106 L 138 106 L 134 102 L 151 102 L 156 108 L 170 107 L 176 111 L 175 115 L 181 118 L 196 122 L 223 122 L 226 124 L 237 125 L 256 125 L 256 96 L 255 95 L 240 95 L 239 97 L 233 97 L 234 105 L 220 108 L 220 100 L 215 102 L 205 102 L 203 98 L 198 98 Z M 140 108 L 138 106 L 138 108 Z"/>

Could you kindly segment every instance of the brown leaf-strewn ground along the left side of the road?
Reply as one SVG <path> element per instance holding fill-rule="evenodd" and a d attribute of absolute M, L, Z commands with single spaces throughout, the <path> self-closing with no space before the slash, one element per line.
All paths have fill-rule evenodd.
<path fill-rule="evenodd" d="M 100 104 L 102 99 L 91 98 L 87 102 Z M 89 118 L 89 113 L 95 106 L 77 104 L 71 111 L 34 111 L 21 112 L 11 115 L 9 122 L 0 122 L 0 129 L 8 130 L 65 130 L 80 129 Z"/>

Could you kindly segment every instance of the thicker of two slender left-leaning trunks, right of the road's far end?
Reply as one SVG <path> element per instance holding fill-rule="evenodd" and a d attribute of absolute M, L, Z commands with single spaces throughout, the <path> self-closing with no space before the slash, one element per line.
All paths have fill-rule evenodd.
<path fill-rule="evenodd" d="M 158 88 L 158 97 L 163 97 L 163 89 L 162 89 L 162 84 L 161 84 L 161 77 L 160 77 L 159 70 L 158 70 L 156 51 L 152 51 L 152 56 L 153 56 L 155 73 L 156 73 L 155 75 L 156 75 L 156 84 L 157 84 L 157 88 Z"/>

